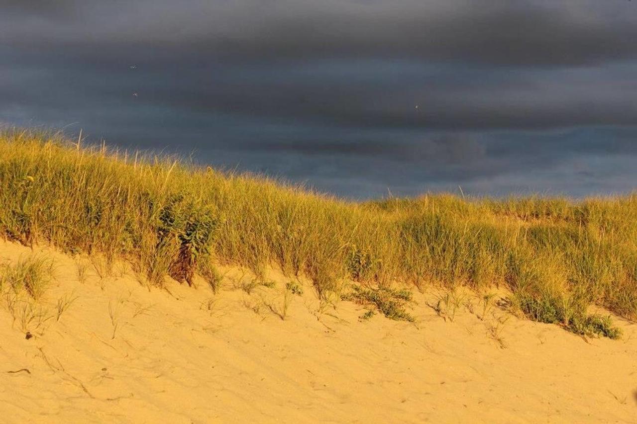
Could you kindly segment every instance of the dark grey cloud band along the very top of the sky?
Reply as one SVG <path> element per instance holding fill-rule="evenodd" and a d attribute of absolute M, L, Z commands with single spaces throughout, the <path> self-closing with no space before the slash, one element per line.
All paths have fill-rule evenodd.
<path fill-rule="evenodd" d="M 406 57 L 522 65 L 637 57 L 636 7 L 627 0 L 17 0 L 0 6 L 8 11 L 0 33 L 11 42 L 84 53 L 97 45 L 226 59 Z"/>

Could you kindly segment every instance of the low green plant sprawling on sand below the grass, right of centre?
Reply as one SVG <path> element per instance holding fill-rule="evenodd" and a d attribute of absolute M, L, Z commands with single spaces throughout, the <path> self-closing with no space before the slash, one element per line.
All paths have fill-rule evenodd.
<path fill-rule="evenodd" d="M 341 296 L 366 307 L 374 307 L 390 320 L 414 322 L 415 318 L 404 307 L 412 302 L 412 292 L 406 289 L 395 290 L 389 287 L 365 288 L 352 286 L 352 292 Z M 371 317 L 371 316 L 369 316 Z"/>

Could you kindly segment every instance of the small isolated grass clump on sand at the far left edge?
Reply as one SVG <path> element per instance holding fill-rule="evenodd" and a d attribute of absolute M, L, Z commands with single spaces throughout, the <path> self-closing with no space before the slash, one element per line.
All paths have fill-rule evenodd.
<path fill-rule="evenodd" d="M 38 300 L 47 290 L 53 275 L 53 262 L 31 255 L 18 259 L 15 264 L 0 266 L 0 289 L 10 286 L 14 292 L 26 292 Z"/>

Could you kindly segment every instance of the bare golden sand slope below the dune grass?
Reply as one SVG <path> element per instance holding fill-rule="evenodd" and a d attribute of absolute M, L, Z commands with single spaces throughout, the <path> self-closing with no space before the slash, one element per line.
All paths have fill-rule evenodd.
<path fill-rule="evenodd" d="M 29 340 L 20 307 L 13 322 L 0 302 L 4 423 L 637 422 L 634 324 L 620 322 L 620 341 L 586 343 L 510 317 L 503 349 L 475 314 L 445 322 L 422 297 L 417 325 L 359 322 L 347 302 L 317 311 L 306 287 L 281 320 L 266 304 L 282 303 L 283 283 L 247 295 L 229 272 L 216 296 L 204 285 L 169 293 L 92 265 L 80 283 L 76 259 L 38 252 L 56 265 L 48 314 L 64 295 L 77 300 L 59 321 L 30 323 Z M 0 260 L 29 254 L 0 243 Z"/>

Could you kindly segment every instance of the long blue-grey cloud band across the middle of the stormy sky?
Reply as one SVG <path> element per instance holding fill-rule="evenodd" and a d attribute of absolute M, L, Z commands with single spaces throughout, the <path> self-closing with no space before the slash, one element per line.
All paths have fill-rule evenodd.
<path fill-rule="evenodd" d="M 14 66 L 17 68 L 17 66 Z M 180 67 L 127 63 L 8 69 L 3 97 L 39 104 L 127 101 L 193 113 L 345 129 L 469 131 L 636 125 L 634 64 L 457 69 L 412 62 Z M 27 88 L 25 88 L 27 87 Z M 97 102 L 99 99 L 99 102 Z"/>

